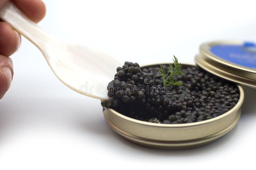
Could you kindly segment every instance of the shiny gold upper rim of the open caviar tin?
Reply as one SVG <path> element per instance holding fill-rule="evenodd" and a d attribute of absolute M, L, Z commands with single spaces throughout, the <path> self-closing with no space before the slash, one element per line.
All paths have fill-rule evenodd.
<path fill-rule="evenodd" d="M 168 63 L 160 63 L 160 64 L 168 64 Z M 159 64 L 148 64 L 148 65 L 143 65 L 141 67 L 147 67 L 147 66 L 152 66 L 153 67 L 154 65 L 159 65 Z M 195 66 L 194 64 L 185 64 L 185 63 L 182 63 L 182 65 Z M 239 97 L 238 102 L 236 103 L 236 105 L 232 109 L 228 110 L 226 113 L 224 113 L 220 116 L 217 116 L 217 117 L 214 117 L 214 118 L 211 118 L 211 119 L 208 119 L 208 120 L 203 120 L 203 121 L 200 121 L 200 122 L 185 123 L 185 124 L 156 124 L 156 123 L 145 122 L 145 121 L 136 120 L 136 119 L 133 119 L 131 117 L 124 116 L 123 114 L 118 113 L 116 110 L 111 109 L 111 108 L 105 108 L 105 109 L 112 112 L 116 117 L 120 117 L 123 120 L 128 121 L 128 122 L 133 123 L 133 124 L 140 124 L 140 125 L 146 125 L 146 126 L 158 127 L 158 128 L 159 127 L 161 127 L 161 128 L 179 128 L 179 127 L 184 128 L 184 127 L 202 126 L 202 125 L 205 125 L 205 124 L 212 124 L 212 123 L 221 121 L 222 119 L 224 119 L 226 117 L 229 117 L 233 112 L 235 112 L 235 111 L 237 111 L 241 108 L 241 106 L 244 102 L 244 90 L 239 85 L 237 85 L 237 88 L 239 89 L 240 97 Z"/>

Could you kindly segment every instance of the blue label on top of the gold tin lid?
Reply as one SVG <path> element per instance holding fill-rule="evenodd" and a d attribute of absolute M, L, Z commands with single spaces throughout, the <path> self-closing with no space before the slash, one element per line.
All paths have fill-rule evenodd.
<path fill-rule="evenodd" d="M 240 66 L 256 69 L 256 45 L 245 42 L 243 45 L 215 45 L 210 51 L 221 59 Z"/>

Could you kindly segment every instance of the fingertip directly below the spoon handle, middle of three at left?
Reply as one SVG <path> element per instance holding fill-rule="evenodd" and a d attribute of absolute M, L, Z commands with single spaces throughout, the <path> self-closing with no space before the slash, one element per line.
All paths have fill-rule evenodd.
<path fill-rule="evenodd" d="M 0 22 L 0 37 L 0 54 L 10 56 L 20 47 L 20 35 L 5 22 Z"/>

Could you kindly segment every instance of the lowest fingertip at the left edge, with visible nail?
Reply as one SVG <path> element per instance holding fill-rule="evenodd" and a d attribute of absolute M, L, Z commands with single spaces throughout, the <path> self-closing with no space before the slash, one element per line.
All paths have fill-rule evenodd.
<path fill-rule="evenodd" d="M 0 54 L 0 99 L 10 88 L 13 78 L 12 59 Z"/>

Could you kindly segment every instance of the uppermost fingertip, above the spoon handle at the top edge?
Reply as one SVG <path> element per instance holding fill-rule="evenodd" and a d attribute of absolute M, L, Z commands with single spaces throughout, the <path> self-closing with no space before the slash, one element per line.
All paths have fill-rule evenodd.
<path fill-rule="evenodd" d="M 41 21 L 46 12 L 46 7 L 42 0 L 12 0 L 21 11 L 35 22 Z"/>

